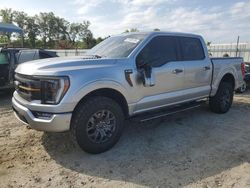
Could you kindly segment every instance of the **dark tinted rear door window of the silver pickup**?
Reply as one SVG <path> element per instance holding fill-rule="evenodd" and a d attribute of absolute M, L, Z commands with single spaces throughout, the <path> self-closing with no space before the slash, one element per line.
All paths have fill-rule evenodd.
<path fill-rule="evenodd" d="M 205 58 L 200 39 L 192 37 L 179 37 L 179 40 L 183 61 L 202 60 Z"/>

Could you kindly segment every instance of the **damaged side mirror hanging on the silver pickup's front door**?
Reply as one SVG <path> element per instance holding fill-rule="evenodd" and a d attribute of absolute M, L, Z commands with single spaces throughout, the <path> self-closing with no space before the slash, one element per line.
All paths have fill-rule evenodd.
<path fill-rule="evenodd" d="M 144 87 L 152 87 L 155 85 L 155 76 L 150 65 L 144 64 L 141 67 L 141 73 Z"/>

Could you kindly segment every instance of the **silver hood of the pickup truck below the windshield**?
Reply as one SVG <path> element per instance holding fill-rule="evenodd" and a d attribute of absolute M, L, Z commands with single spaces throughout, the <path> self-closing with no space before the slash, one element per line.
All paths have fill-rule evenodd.
<path fill-rule="evenodd" d="M 94 57 L 59 57 L 29 61 L 18 65 L 15 72 L 24 75 L 58 75 L 67 71 L 114 66 L 116 59 Z"/>

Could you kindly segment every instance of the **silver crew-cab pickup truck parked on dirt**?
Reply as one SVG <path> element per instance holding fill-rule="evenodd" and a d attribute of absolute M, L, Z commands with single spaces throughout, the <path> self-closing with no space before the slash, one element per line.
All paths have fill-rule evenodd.
<path fill-rule="evenodd" d="M 12 104 L 31 128 L 70 130 L 83 150 L 100 153 L 119 140 L 127 118 L 146 121 L 203 100 L 211 111 L 226 113 L 244 72 L 242 58 L 209 58 L 199 35 L 122 34 L 84 57 L 19 65 Z"/>

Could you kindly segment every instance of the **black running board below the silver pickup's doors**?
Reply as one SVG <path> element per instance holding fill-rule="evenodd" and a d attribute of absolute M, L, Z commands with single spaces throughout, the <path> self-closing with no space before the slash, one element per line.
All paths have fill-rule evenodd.
<path fill-rule="evenodd" d="M 175 106 L 164 108 L 164 109 L 161 109 L 161 110 L 151 111 L 151 112 L 147 112 L 147 113 L 143 113 L 143 114 L 133 116 L 133 117 L 131 117 L 131 120 L 132 121 L 137 121 L 137 122 L 140 122 L 140 123 L 144 123 L 146 121 L 158 119 L 158 118 L 161 118 L 161 117 L 169 116 L 169 115 L 172 115 L 172 114 L 176 114 L 176 113 L 179 113 L 179 112 L 184 112 L 186 110 L 191 110 L 191 109 L 200 107 L 205 102 L 206 101 L 203 100 L 203 101 L 198 101 L 198 102 L 185 103 L 185 104 L 182 104 L 182 105 L 175 105 Z"/>

